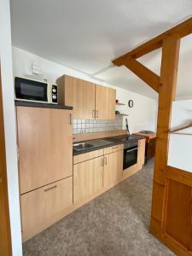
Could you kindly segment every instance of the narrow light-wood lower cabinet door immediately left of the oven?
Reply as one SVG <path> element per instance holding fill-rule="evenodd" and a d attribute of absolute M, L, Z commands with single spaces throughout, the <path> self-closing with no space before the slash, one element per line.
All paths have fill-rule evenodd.
<path fill-rule="evenodd" d="M 123 175 L 123 150 L 104 155 L 103 186 L 118 181 Z"/>

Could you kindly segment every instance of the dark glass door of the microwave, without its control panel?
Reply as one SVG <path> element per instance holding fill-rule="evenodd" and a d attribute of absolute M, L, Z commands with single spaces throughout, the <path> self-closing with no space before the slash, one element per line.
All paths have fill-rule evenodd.
<path fill-rule="evenodd" d="M 15 78 L 15 99 L 26 102 L 48 102 L 48 84 Z"/>

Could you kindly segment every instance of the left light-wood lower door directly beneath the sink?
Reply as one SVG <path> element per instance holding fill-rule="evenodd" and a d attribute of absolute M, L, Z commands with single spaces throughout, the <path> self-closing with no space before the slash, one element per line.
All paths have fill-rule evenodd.
<path fill-rule="evenodd" d="M 73 202 L 102 189 L 103 156 L 73 166 Z"/>

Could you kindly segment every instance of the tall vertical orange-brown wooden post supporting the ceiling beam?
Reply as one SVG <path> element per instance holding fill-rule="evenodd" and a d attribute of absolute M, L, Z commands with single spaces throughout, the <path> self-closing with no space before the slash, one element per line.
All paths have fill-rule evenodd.
<path fill-rule="evenodd" d="M 172 114 L 172 101 L 177 86 L 177 66 L 180 39 L 167 36 L 163 39 L 160 70 L 159 110 L 157 121 L 156 154 L 154 162 L 154 189 L 150 231 L 155 236 L 163 232 L 166 205 L 166 171 L 169 145 L 169 129 Z M 158 202 L 158 203 L 157 203 Z"/>

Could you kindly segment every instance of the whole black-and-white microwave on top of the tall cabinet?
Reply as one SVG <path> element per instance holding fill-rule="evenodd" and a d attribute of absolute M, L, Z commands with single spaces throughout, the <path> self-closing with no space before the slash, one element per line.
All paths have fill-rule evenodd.
<path fill-rule="evenodd" d="M 57 85 L 15 77 L 15 100 L 57 104 Z"/>

